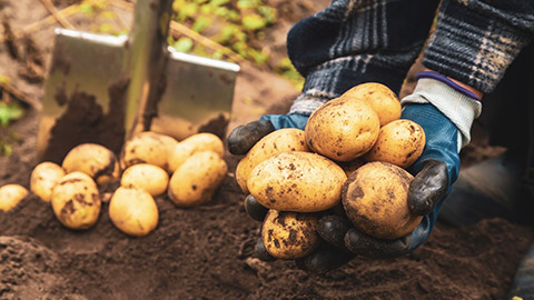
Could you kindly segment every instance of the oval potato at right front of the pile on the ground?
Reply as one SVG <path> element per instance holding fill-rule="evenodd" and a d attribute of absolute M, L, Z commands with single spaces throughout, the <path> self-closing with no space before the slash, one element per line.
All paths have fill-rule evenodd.
<path fill-rule="evenodd" d="M 172 173 L 167 193 L 178 207 L 204 204 L 211 200 L 227 171 L 228 167 L 218 153 L 197 152 Z"/>

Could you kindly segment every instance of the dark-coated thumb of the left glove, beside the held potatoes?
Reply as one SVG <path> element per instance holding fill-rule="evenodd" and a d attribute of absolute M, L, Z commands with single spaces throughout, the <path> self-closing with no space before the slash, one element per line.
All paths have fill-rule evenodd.
<path fill-rule="evenodd" d="M 226 139 L 228 151 L 235 156 L 243 156 L 261 138 L 275 131 L 269 120 L 254 121 L 246 126 L 236 127 Z"/>

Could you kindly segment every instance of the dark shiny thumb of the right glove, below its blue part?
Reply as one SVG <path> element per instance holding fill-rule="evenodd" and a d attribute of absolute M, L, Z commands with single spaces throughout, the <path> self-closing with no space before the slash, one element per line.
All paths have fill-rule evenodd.
<path fill-rule="evenodd" d="M 448 189 L 448 172 L 445 162 L 427 160 L 409 184 L 408 207 L 416 216 L 431 213 Z"/>

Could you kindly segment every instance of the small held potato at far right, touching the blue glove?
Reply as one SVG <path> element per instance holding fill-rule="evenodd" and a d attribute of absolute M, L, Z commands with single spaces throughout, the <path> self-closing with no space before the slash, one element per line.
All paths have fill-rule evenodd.
<path fill-rule="evenodd" d="M 425 148 L 425 131 L 412 120 L 396 120 L 380 128 L 366 161 L 384 161 L 400 168 L 412 166 Z"/>

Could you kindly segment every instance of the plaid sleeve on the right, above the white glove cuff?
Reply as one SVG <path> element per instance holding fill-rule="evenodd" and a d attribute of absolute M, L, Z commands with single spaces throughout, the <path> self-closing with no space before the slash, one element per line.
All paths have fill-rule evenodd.
<path fill-rule="evenodd" d="M 532 0 L 444 0 L 423 64 L 491 92 L 533 32 Z"/>

